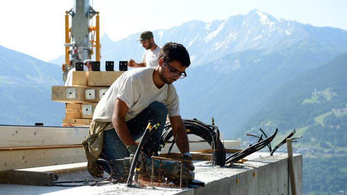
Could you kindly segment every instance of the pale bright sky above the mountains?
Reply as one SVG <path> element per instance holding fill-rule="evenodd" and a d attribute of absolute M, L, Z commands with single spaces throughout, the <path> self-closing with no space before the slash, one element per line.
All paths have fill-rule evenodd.
<path fill-rule="evenodd" d="M 73 0 L 1 2 L 1 46 L 45 61 L 63 54 L 64 12 L 73 7 Z M 106 32 L 114 41 L 143 30 L 166 29 L 193 19 L 222 20 L 253 9 L 276 18 L 347 30 L 347 1 L 342 0 L 90 0 L 90 4 L 100 12 L 101 35 Z"/>

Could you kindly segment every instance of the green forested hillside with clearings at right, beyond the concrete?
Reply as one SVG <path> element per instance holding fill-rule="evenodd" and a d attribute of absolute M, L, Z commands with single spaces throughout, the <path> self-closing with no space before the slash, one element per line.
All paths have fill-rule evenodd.
<path fill-rule="evenodd" d="M 303 190 L 327 194 L 347 190 L 347 53 L 301 74 L 269 98 L 265 108 L 238 133 L 245 144 L 254 141 L 246 133 L 271 134 L 279 140 L 296 129 L 294 150 L 303 154 Z M 237 137 L 237 136 L 236 136 Z M 285 150 L 285 146 L 281 149 Z"/>

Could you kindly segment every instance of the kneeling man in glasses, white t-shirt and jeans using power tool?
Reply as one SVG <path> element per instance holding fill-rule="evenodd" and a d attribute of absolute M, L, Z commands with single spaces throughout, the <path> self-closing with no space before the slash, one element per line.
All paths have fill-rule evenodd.
<path fill-rule="evenodd" d="M 185 159 L 191 159 L 187 132 L 180 116 L 178 95 L 172 85 L 172 82 L 187 76 L 185 70 L 190 65 L 188 51 L 181 44 L 168 42 L 161 49 L 158 62 L 157 67 L 126 71 L 107 90 L 95 108 L 90 128 L 90 137 L 95 139 L 86 141 L 93 143 L 93 146 L 85 149 L 86 153 L 90 152 L 95 158 L 107 161 L 134 155 L 137 149 L 135 140 L 143 135 L 148 121 L 153 120 L 154 124 L 160 122 L 161 125 L 148 138 L 142 153 L 148 157 L 153 153 L 158 154 L 168 115 L 181 154 Z M 100 137 L 103 139 L 100 140 Z M 82 142 L 83 145 L 85 143 Z M 95 145 L 99 145 L 99 148 L 93 148 Z M 101 166 L 110 173 L 108 166 Z M 193 165 L 189 166 L 192 171 Z M 94 170 L 90 168 L 95 167 L 88 167 L 93 175 Z M 116 175 L 121 177 L 123 173 L 123 179 L 126 179 L 124 167 L 116 166 L 113 169 Z"/>

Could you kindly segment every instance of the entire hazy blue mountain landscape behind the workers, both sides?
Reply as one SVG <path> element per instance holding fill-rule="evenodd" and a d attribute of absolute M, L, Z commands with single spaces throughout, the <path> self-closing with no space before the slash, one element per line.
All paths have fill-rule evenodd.
<path fill-rule="evenodd" d="M 347 191 L 347 31 L 253 10 L 153 33 L 158 45 L 179 42 L 190 54 L 188 76 L 174 83 L 182 118 L 214 117 L 225 139 L 244 145 L 254 141 L 246 133 L 258 128 L 267 134 L 279 128 L 275 144 L 295 128 L 303 136 L 294 148 L 305 154 L 304 192 Z M 137 39 L 138 33 L 118 41 L 104 34 L 101 70 L 106 60 L 139 61 L 144 49 Z M 59 126 L 65 106 L 51 101 L 51 86 L 63 84 L 63 61 L 0 46 L 0 124 Z"/>

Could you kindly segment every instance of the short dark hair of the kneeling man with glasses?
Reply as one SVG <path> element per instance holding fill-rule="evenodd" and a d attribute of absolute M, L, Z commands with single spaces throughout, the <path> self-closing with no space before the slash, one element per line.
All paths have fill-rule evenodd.
<path fill-rule="evenodd" d="M 167 42 L 159 52 L 158 59 L 163 58 L 165 62 L 179 61 L 182 66 L 189 67 L 190 58 L 187 49 L 176 42 Z"/>

